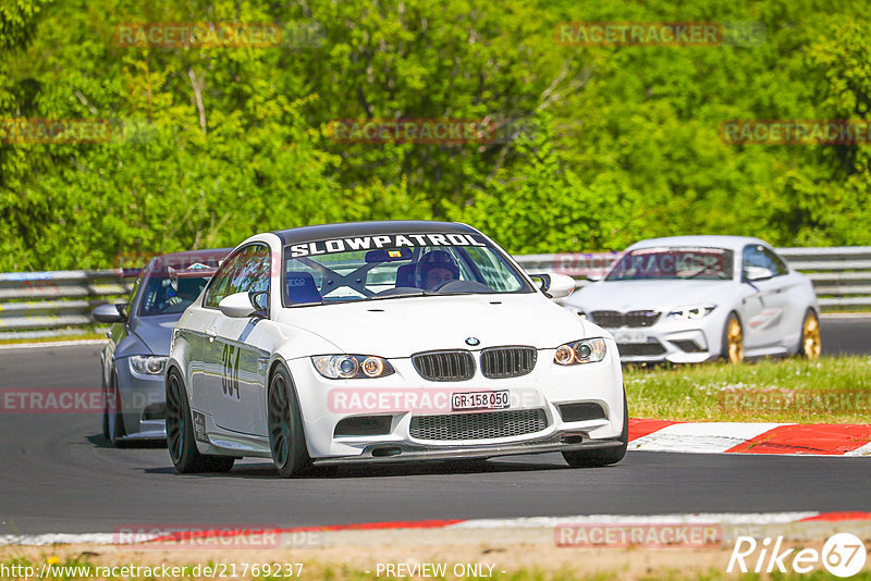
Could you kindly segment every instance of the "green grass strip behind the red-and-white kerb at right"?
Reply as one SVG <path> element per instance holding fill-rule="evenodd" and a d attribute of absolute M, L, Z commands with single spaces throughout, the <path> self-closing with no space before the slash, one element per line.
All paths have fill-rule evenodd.
<path fill-rule="evenodd" d="M 868 423 L 871 357 L 624 370 L 633 418 Z"/>

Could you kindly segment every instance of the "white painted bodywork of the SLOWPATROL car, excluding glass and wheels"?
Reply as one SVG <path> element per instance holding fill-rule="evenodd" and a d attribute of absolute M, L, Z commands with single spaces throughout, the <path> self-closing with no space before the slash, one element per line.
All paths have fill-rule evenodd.
<path fill-rule="evenodd" d="M 270 285 L 272 289 L 281 288 L 282 269 L 274 264 L 283 264 L 282 240 L 275 234 L 261 234 L 248 238 L 240 247 L 254 242 L 269 245 L 273 262 Z M 516 264 L 507 255 L 505 258 Z M 526 279 L 531 285 L 531 280 Z M 208 288 L 204 296 L 207 292 Z M 169 363 L 184 378 L 195 423 L 203 421 L 205 436 L 197 438 L 197 449 L 201 454 L 270 457 L 268 385 L 270 372 L 277 364 L 285 366 L 293 380 L 308 454 L 316 463 L 318 460 L 329 463 L 330 460 L 372 459 L 366 456 L 367 450 L 382 444 L 409 446 L 422 450 L 425 456 L 450 455 L 458 448 L 474 456 L 481 446 L 502 454 L 513 446 L 551 437 L 559 440 L 563 433 L 582 433 L 587 444 L 611 442 L 623 431 L 623 376 L 613 337 L 591 322 L 568 313 L 541 292 L 413 296 L 297 307 L 283 307 L 281 293 L 271 292 L 268 320 L 229 318 L 218 309 L 204 307 L 203 302 L 200 297 L 179 321 Z M 191 339 L 194 335 L 209 335 L 201 353 Z M 480 343 L 470 347 L 465 343 L 468 337 L 477 337 Z M 568 367 L 553 362 L 560 345 L 592 337 L 605 339 L 604 360 Z M 225 345 L 232 346 L 236 354 L 233 357 L 240 359 L 237 392 L 231 388 L 228 393 L 226 370 L 221 359 Z M 481 374 L 477 363 L 481 349 L 517 345 L 533 346 L 538 351 L 530 373 L 510 379 L 488 379 Z M 468 350 L 475 357 L 476 374 L 471 380 L 427 381 L 410 359 L 413 354 L 453 349 Z M 376 379 L 327 379 L 316 370 L 311 356 L 332 354 L 379 356 L 389 361 L 395 373 Z M 445 390 L 507 390 L 512 397 L 510 409 L 541 408 L 548 421 L 545 429 L 533 434 L 424 441 L 409 433 L 416 410 L 404 409 L 391 412 L 393 420 L 388 434 L 334 435 L 340 420 L 360 413 L 331 409 L 328 395 L 333 390 L 419 391 L 421 394 Z M 597 403 L 604 416 L 563 422 L 556 406 L 576 401 Z M 518 448 L 516 453 L 524 452 Z M 499 454 L 481 453 L 480 456 Z"/>

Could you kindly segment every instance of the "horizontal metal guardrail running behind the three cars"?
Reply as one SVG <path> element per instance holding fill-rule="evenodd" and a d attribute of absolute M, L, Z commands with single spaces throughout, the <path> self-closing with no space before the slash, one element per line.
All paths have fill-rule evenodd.
<path fill-rule="evenodd" d="M 826 310 L 871 308 L 871 246 L 780 248 L 778 254 L 813 281 Z M 526 255 L 515 259 L 529 272 L 562 272 L 578 288 L 603 273 L 617 252 Z M 90 311 L 121 301 L 136 271 L 0 273 L 0 339 L 75 335 L 94 331 Z"/>

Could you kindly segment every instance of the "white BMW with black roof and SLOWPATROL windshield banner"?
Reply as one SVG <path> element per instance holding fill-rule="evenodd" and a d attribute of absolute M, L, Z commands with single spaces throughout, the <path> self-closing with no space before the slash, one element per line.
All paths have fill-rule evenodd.
<path fill-rule="evenodd" d="M 533 282 L 538 281 L 538 284 Z M 614 339 L 477 230 L 363 222 L 258 234 L 175 326 L 167 440 L 180 472 L 561 452 L 619 461 Z"/>

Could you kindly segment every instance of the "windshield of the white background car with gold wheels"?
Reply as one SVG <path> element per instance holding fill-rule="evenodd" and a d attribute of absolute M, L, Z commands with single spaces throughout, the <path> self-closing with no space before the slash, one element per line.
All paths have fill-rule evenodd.
<path fill-rule="evenodd" d="M 639 248 L 623 255 L 606 281 L 732 279 L 733 252 L 724 248 Z"/>

